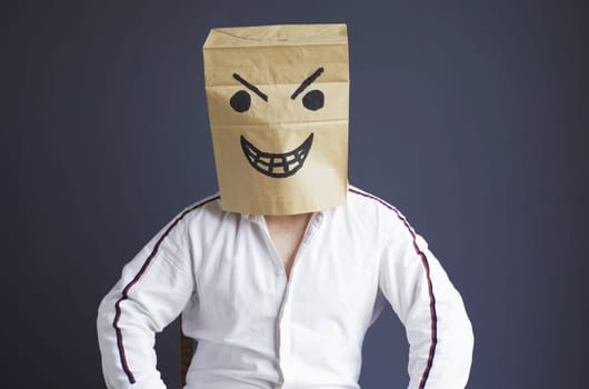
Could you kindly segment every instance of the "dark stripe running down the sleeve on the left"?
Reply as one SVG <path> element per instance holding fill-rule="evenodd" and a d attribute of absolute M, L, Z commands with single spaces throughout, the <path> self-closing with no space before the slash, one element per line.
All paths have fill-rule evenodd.
<path fill-rule="evenodd" d="M 122 340 L 122 331 L 121 329 L 119 328 L 119 320 L 121 318 L 121 302 L 127 300 L 129 298 L 129 290 L 137 283 L 139 282 L 139 280 L 141 279 L 141 277 L 143 276 L 143 273 L 146 272 L 147 268 L 149 267 L 149 263 L 151 263 L 151 261 L 153 260 L 153 258 L 156 257 L 156 253 L 158 252 L 158 249 L 160 248 L 160 245 L 161 242 L 163 241 L 163 239 L 166 239 L 166 237 L 170 233 L 170 231 L 178 225 L 178 222 L 180 220 L 182 220 L 182 218 L 193 211 L 194 209 L 199 208 L 199 207 L 202 207 L 211 201 L 214 201 L 219 199 L 219 196 L 216 196 L 216 197 L 212 197 L 210 199 L 207 199 L 189 209 L 187 209 L 186 211 L 183 211 L 171 225 L 170 227 L 168 227 L 168 229 L 166 230 L 166 232 L 163 232 L 163 235 L 160 237 L 160 239 L 158 239 L 158 242 L 156 243 L 156 246 L 153 247 L 153 250 L 151 251 L 151 253 L 149 255 L 149 257 L 146 259 L 146 261 L 143 262 L 143 266 L 141 267 L 141 269 L 139 270 L 139 272 L 134 276 L 134 278 L 124 287 L 124 289 L 122 290 L 122 296 L 121 298 L 114 303 L 114 310 L 116 310 L 116 315 L 114 315 L 114 320 L 112 322 L 112 327 L 114 328 L 114 331 L 117 332 L 117 346 L 119 348 L 119 356 L 120 356 L 120 359 L 121 359 L 121 366 L 122 366 L 122 369 L 124 371 L 124 373 L 127 375 L 127 378 L 129 379 L 129 382 L 130 383 L 134 383 L 136 382 L 136 379 L 133 377 L 133 373 L 131 372 L 131 369 L 129 368 L 129 365 L 127 363 L 127 357 L 124 355 L 124 345 L 123 345 L 123 340 Z"/>

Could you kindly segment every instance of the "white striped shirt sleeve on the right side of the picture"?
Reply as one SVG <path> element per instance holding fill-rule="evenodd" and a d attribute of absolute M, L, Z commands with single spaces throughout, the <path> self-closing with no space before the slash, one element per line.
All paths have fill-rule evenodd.
<path fill-rule="evenodd" d="M 396 212 L 379 287 L 406 328 L 409 388 L 465 388 L 473 335 L 462 298 L 423 238 Z"/>

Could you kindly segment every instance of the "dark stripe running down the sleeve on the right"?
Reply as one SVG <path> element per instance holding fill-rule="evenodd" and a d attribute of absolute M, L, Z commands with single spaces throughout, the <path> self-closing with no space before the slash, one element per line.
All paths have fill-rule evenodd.
<path fill-rule="evenodd" d="M 438 315 L 436 312 L 436 297 L 433 296 L 433 287 L 431 285 L 428 259 L 426 255 L 423 253 L 423 251 L 421 251 L 421 249 L 417 246 L 416 232 L 413 231 L 413 229 L 411 228 L 407 219 L 401 215 L 401 212 L 399 212 L 397 208 L 392 207 L 391 205 L 387 203 L 386 201 L 379 199 L 376 196 L 358 191 L 353 188 L 350 188 L 349 191 L 352 193 L 360 194 L 366 198 L 372 199 L 375 201 L 378 201 L 379 203 L 392 210 L 397 215 L 397 218 L 402 221 L 402 223 L 405 225 L 405 227 L 411 235 L 411 238 L 413 238 L 413 250 L 421 258 L 421 263 L 423 265 L 423 268 L 426 269 L 426 276 L 428 279 L 428 292 L 429 292 L 429 311 L 430 311 L 430 317 L 431 317 L 431 345 L 429 347 L 428 362 L 421 376 L 421 381 L 419 382 L 419 389 L 423 389 L 426 387 L 426 382 L 428 381 L 431 366 L 433 365 L 433 356 L 436 353 L 436 346 L 438 345 Z"/>

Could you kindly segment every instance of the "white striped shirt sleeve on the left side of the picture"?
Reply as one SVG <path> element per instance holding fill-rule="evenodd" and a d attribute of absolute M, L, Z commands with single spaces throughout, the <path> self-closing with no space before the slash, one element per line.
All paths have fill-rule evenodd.
<path fill-rule="evenodd" d="M 166 388 L 156 368 L 156 332 L 180 315 L 196 290 L 184 215 L 124 266 L 99 306 L 98 340 L 110 389 Z"/>

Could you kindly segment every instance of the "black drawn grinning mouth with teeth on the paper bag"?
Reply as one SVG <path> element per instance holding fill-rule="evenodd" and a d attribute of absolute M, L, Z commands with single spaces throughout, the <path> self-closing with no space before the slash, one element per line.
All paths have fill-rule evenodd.
<path fill-rule="evenodd" d="M 311 133 L 307 139 L 294 150 L 284 153 L 270 153 L 258 149 L 250 143 L 246 137 L 241 136 L 241 150 L 251 167 L 264 176 L 272 178 L 284 178 L 294 174 L 302 168 L 311 146 L 313 143 L 313 134 Z"/>

